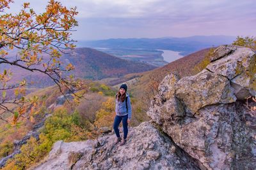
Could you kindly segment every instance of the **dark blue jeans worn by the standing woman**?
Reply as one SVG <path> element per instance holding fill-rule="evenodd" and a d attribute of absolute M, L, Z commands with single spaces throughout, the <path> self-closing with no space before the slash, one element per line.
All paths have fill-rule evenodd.
<path fill-rule="evenodd" d="M 128 120 L 128 115 L 125 115 L 125 116 L 122 116 L 122 117 L 116 115 L 113 127 L 114 127 L 115 134 L 116 134 L 117 138 L 120 138 L 120 133 L 119 133 L 118 127 L 119 127 L 121 121 L 122 121 L 123 128 L 124 128 L 124 139 L 127 138 L 127 134 L 128 134 L 128 122 L 127 122 L 127 120 Z"/>

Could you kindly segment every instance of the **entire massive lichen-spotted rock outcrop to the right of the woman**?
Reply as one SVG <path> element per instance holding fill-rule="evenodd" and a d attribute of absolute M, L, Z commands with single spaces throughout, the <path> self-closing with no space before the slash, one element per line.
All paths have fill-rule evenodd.
<path fill-rule="evenodd" d="M 255 93 L 255 58 L 249 48 L 220 46 L 202 72 L 163 80 L 148 116 L 206 169 L 255 169 L 256 115 L 237 101 Z M 171 96 L 164 96 L 166 88 L 174 89 Z M 166 117 L 178 110 L 178 121 Z"/>

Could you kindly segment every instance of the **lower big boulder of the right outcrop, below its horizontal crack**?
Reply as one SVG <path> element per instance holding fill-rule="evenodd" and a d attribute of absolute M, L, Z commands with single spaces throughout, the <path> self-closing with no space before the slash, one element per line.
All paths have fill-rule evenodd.
<path fill-rule="evenodd" d="M 255 115 L 243 104 L 205 106 L 182 124 L 163 123 L 163 131 L 207 169 L 256 166 Z"/>

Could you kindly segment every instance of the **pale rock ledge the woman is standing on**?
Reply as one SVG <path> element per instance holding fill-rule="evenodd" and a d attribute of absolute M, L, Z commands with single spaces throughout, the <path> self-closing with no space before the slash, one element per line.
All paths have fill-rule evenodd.
<path fill-rule="evenodd" d="M 54 144 L 48 159 L 35 169 L 199 169 L 191 157 L 173 145 L 149 122 L 129 129 L 127 143 L 115 145 L 115 135 L 95 141 Z"/>

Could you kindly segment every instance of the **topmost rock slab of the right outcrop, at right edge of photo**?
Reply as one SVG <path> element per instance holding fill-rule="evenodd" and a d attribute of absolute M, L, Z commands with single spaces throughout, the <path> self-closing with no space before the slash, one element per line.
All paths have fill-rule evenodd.
<path fill-rule="evenodd" d="M 211 62 L 207 69 L 231 80 L 238 99 L 255 96 L 256 91 L 256 55 L 250 48 L 241 46 L 220 46 L 219 54 L 232 51 L 219 60 Z M 218 54 L 216 54 L 218 55 Z"/>

